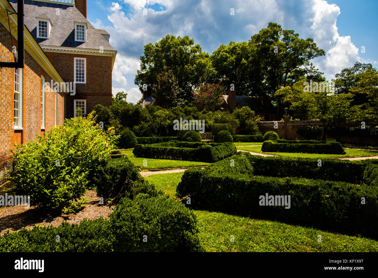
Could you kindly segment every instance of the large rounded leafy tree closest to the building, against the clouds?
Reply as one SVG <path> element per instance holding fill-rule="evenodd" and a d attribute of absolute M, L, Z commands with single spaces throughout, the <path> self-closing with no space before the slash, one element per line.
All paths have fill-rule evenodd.
<path fill-rule="evenodd" d="M 197 84 L 208 81 L 215 76 L 209 54 L 203 52 L 199 44 L 194 45 L 194 39 L 189 36 L 175 37 L 166 35 L 155 45 L 144 46 L 144 54 L 140 56 L 140 70 L 135 76 L 135 84 L 143 92 L 144 84 L 147 90 L 152 90 L 157 84 L 156 77 L 164 71 L 172 70 L 180 89 L 178 98 L 191 100 L 192 90 Z"/>

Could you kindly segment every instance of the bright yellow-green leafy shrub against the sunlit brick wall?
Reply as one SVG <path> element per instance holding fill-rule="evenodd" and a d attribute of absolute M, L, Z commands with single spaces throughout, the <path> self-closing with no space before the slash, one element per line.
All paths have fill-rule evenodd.
<path fill-rule="evenodd" d="M 13 150 L 10 180 L 17 195 L 30 195 L 32 205 L 60 211 L 80 208 L 73 202 L 93 185 L 98 169 L 114 149 L 116 136 L 95 124 L 95 116 L 66 119 L 38 140 Z M 106 148 L 106 144 L 109 148 Z"/>

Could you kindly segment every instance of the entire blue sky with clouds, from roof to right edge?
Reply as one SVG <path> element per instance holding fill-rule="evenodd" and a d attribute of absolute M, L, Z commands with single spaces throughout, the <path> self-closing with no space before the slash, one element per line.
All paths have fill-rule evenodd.
<path fill-rule="evenodd" d="M 107 30 L 118 50 L 112 91 L 127 92 L 133 103 L 141 98 L 134 78 L 143 47 L 166 34 L 188 35 L 211 54 L 222 43 L 248 41 L 268 22 L 277 22 L 302 38 L 312 37 L 326 51 L 313 62 L 330 80 L 357 61 L 378 67 L 377 11 L 376 0 L 94 0 L 87 4 L 88 20 Z"/>

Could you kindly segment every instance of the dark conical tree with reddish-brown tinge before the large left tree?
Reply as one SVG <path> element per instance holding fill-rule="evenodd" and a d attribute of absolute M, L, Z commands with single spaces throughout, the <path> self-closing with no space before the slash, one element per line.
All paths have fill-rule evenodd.
<path fill-rule="evenodd" d="M 152 96 L 159 106 L 170 108 L 183 104 L 183 99 L 178 98 L 180 89 L 172 70 L 167 70 L 167 67 L 164 67 L 164 71 L 158 75 L 157 81 L 158 84 L 153 84 Z"/>

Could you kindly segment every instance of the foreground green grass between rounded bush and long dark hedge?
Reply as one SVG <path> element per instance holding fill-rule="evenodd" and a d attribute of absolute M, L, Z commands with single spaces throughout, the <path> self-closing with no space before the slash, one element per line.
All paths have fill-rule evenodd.
<path fill-rule="evenodd" d="M 147 180 L 175 198 L 182 175 L 183 172 L 156 174 Z M 194 213 L 206 252 L 378 252 L 378 241 L 372 239 L 218 212 Z M 318 242 L 318 235 L 322 242 Z"/>

